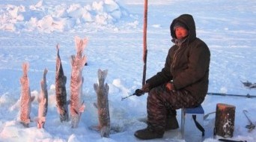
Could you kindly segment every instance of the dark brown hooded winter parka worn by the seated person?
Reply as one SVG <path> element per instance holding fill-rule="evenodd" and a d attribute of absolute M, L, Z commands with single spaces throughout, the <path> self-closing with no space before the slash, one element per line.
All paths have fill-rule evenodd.
<path fill-rule="evenodd" d="M 168 51 L 165 67 L 147 80 L 150 87 L 157 87 L 172 81 L 175 90 L 187 90 L 196 99 L 204 100 L 208 90 L 210 50 L 206 43 L 196 37 L 195 22 L 191 15 L 183 14 L 171 22 L 170 30 L 176 39 L 174 24 L 183 22 L 189 35 L 181 46 L 175 44 Z"/>

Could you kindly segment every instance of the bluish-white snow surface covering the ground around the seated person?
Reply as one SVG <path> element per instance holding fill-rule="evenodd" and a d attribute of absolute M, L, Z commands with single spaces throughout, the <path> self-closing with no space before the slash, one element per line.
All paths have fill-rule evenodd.
<path fill-rule="evenodd" d="M 210 48 L 209 92 L 256 95 L 241 81 L 256 82 L 256 1 L 206 0 L 148 1 L 147 78 L 162 69 L 172 45 L 169 25 L 183 13 L 195 18 L 197 35 Z M 1 0 L 0 1 L 0 141 L 139 141 L 133 136 L 146 124 L 147 94 L 121 98 L 141 87 L 143 70 L 142 0 Z M 67 93 L 70 96 L 70 55 L 76 54 L 74 37 L 88 37 L 85 48 L 88 66 L 83 70 L 82 99 L 86 110 L 77 129 L 70 122 L 61 123 L 55 102 L 55 46 L 59 43 Z M 22 63 L 30 64 L 28 77 L 31 95 L 40 94 L 43 70 L 49 93 L 45 129 L 29 128 L 19 123 L 19 97 Z M 94 83 L 97 70 L 109 70 L 109 108 L 112 133 L 101 138 L 91 130 L 97 126 L 97 100 Z M 69 99 L 69 98 L 68 98 Z M 243 110 L 256 123 L 255 99 L 236 96 L 207 96 L 202 106 L 205 113 L 216 110 L 217 103 L 236 106 L 234 137 L 231 140 L 256 141 L 256 130 L 248 132 L 249 124 Z M 31 120 L 37 117 L 38 102 L 32 102 Z M 177 111 L 180 123 L 180 110 Z M 204 141 L 213 137 L 215 115 L 204 120 Z M 164 138 L 153 141 L 184 141 L 180 129 L 165 132 Z"/>

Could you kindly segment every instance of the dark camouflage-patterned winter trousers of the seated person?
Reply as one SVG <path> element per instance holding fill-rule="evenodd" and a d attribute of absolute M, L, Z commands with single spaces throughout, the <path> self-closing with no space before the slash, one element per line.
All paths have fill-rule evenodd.
<path fill-rule="evenodd" d="M 176 109 L 198 106 L 203 100 L 195 99 L 186 90 L 169 91 L 165 84 L 154 87 L 147 96 L 147 124 L 155 129 L 165 129 L 168 114 L 176 115 Z"/>

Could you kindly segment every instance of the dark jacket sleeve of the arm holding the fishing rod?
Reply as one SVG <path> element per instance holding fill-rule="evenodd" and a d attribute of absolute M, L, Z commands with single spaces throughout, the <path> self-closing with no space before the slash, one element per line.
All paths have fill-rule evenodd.
<path fill-rule="evenodd" d="M 171 49 L 169 49 L 168 55 L 165 59 L 165 67 L 163 67 L 160 72 L 157 72 L 156 75 L 153 75 L 153 77 L 147 79 L 146 81 L 147 83 L 150 84 L 150 89 L 153 87 L 157 87 L 160 84 L 164 84 L 168 81 L 171 81 L 172 79 L 172 75 L 170 71 L 171 62 L 172 62 Z"/>

